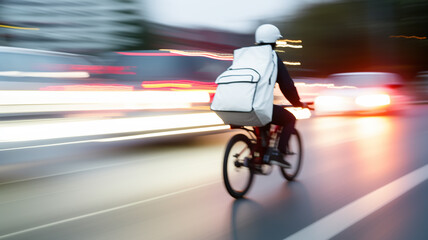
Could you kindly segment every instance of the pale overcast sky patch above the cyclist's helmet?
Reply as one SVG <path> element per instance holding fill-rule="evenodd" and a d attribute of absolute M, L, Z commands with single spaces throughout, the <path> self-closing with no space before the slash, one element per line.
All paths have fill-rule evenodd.
<path fill-rule="evenodd" d="M 146 0 L 151 21 L 181 27 L 253 32 L 260 19 L 292 16 L 308 0 Z M 262 22 L 266 23 L 266 22 Z"/>

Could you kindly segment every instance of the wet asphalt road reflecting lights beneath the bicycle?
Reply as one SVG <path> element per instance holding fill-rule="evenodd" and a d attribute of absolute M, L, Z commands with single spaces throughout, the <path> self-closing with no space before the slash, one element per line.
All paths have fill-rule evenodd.
<path fill-rule="evenodd" d="M 230 197 L 236 132 L 0 146 L 0 239 L 428 239 L 428 105 L 298 122 L 304 165 Z"/>

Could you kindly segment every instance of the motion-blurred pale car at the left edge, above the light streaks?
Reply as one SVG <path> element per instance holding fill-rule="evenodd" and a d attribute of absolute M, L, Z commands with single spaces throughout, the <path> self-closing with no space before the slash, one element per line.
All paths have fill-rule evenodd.
<path fill-rule="evenodd" d="M 97 83 L 99 79 L 91 72 L 94 61 L 79 54 L 0 46 L 0 89 L 40 90 Z"/>

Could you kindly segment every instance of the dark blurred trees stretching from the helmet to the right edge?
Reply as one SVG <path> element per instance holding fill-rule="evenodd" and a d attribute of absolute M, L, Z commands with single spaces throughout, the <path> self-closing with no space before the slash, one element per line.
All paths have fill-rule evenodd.
<path fill-rule="evenodd" d="M 325 76 L 347 71 L 390 71 L 406 77 L 427 65 L 425 0 L 347 0 L 311 5 L 281 24 L 289 39 L 303 49 L 288 50 L 302 62 L 290 67 L 297 75 Z M 295 52 L 296 51 L 296 52 Z M 297 52 L 298 51 L 298 52 Z"/>

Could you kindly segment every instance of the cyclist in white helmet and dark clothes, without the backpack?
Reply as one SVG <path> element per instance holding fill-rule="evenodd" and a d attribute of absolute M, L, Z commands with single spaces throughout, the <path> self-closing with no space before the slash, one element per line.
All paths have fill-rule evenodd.
<path fill-rule="evenodd" d="M 255 33 L 256 45 L 271 45 L 272 49 L 275 49 L 276 41 L 280 38 L 282 38 L 281 32 L 276 26 L 272 24 L 263 24 L 259 26 Z M 278 61 L 276 65 L 278 68 L 278 74 L 276 76 L 276 82 L 278 83 L 282 94 L 293 105 L 293 107 L 306 107 L 307 105 L 300 101 L 299 94 L 296 87 L 294 86 L 294 82 L 278 54 L 277 57 Z M 285 153 L 287 152 L 287 143 L 290 139 L 292 131 L 294 130 L 296 118 L 283 107 L 274 104 L 272 123 L 282 126 L 283 129 L 281 135 L 279 136 L 279 152 L 275 151 L 270 153 L 279 155 L 279 157 L 275 158 L 275 160 L 272 159 L 271 164 L 276 164 L 281 167 L 290 167 L 290 163 L 284 159 L 284 156 L 286 156 Z M 264 127 L 265 131 L 269 131 L 267 127 L 268 126 Z"/>

